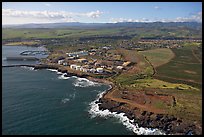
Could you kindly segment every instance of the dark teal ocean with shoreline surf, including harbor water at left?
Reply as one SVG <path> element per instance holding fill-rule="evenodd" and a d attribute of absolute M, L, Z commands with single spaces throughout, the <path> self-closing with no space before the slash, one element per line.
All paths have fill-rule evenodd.
<path fill-rule="evenodd" d="M 7 51 L 17 51 L 16 48 L 19 47 L 3 46 L 2 58 L 5 58 Z M 23 47 L 22 50 L 25 50 L 24 48 L 27 47 Z M 12 63 L 2 60 L 2 65 Z M 99 111 L 95 100 L 109 88 L 109 85 L 85 78 L 64 77 L 63 73 L 56 70 L 3 67 L 2 134 L 162 134 L 155 129 L 132 125 L 124 114 L 110 113 L 108 110 Z"/>

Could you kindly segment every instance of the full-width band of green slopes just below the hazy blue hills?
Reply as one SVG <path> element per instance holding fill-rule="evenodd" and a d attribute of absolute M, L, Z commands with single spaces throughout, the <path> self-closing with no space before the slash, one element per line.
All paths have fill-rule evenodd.
<path fill-rule="evenodd" d="M 2 29 L 2 39 L 13 38 L 67 38 L 67 37 L 87 37 L 94 35 L 135 35 L 137 37 L 148 38 L 164 38 L 164 37 L 187 37 L 202 38 L 202 31 L 186 28 L 186 27 L 107 27 L 107 28 L 35 28 L 35 29 Z"/>

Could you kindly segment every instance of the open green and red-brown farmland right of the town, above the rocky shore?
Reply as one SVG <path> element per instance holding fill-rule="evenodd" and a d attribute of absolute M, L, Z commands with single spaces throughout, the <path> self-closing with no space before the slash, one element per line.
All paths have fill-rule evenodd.
<path fill-rule="evenodd" d="M 113 81 L 118 84 L 118 89 L 115 89 L 107 97 L 119 102 L 126 101 L 129 105 L 139 106 L 141 106 L 142 100 L 145 100 L 147 104 L 141 106 L 145 110 L 149 108 L 149 111 L 160 111 L 160 113 L 169 113 L 185 120 L 201 122 L 202 64 L 197 60 L 200 56 L 196 58 L 192 50 L 196 53 L 199 52 L 196 47 L 192 46 L 183 47 L 183 49 L 153 49 L 144 52 L 132 51 L 129 56 L 137 58 L 137 63 L 131 70 L 113 78 Z M 123 53 L 124 58 L 128 58 L 128 54 L 125 54 L 127 51 L 119 51 Z M 160 53 L 161 55 L 158 55 Z M 149 57 L 148 59 L 154 67 L 156 64 L 155 76 L 144 71 L 147 67 L 151 68 L 151 65 L 145 60 L 143 54 L 147 58 Z M 164 58 L 165 56 L 166 58 Z M 159 63 L 157 63 L 157 60 Z M 133 71 L 136 73 L 133 73 Z M 165 75 L 168 79 L 161 77 L 161 74 L 162 76 Z M 130 96 L 124 97 L 121 90 L 128 90 Z M 136 99 L 134 96 L 138 96 L 140 99 Z M 173 101 L 171 97 L 175 98 L 175 106 L 169 105 L 168 103 Z"/>

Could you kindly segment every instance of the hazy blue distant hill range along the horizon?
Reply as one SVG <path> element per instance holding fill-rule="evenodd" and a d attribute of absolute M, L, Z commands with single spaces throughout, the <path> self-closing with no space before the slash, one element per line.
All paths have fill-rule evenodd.
<path fill-rule="evenodd" d="M 2 25 L 2 28 L 100 28 L 100 27 L 141 27 L 141 28 L 155 28 L 155 27 L 187 27 L 193 29 L 202 29 L 202 23 L 198 22 L 121 22 L 121 23 L 44 23 L 44 24 L 23 24 L 23 25 Z"/>

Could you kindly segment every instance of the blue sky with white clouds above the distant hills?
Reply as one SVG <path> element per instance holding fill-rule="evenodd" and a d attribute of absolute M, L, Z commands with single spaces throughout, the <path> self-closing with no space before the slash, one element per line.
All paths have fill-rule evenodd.
<path fill-rule="evenodd" d="M 3 2 L 2 24 L 202 22 L 202 2 Z"/>

